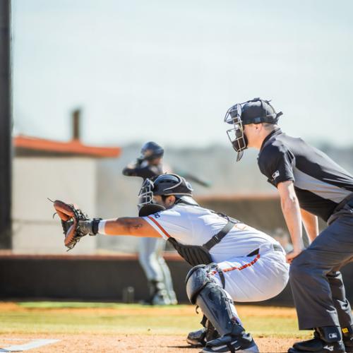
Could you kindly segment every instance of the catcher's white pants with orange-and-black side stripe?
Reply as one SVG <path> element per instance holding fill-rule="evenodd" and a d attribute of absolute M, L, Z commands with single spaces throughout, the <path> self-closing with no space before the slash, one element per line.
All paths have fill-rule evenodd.
<path fill-rule="evenodd" d="M 233 258 L 217 264 L 225 275 L 225 290 L 234 301 L 263 301 L 280 294 L 289 279 L 285 253 L 271 244 L 261 246 L 259 254 Z M 215 280 L 222 286 L 217 273 Z"/>

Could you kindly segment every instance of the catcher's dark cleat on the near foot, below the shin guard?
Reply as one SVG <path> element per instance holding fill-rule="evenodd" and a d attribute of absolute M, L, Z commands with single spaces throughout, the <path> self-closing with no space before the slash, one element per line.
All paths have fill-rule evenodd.
<path fill-rule="evenodd" d="M 206 343 L 201 352 L 223 353 L 223 352 L 259 352 L 258 346 L 249 333 L 232 336 L 225 335 Z"/>

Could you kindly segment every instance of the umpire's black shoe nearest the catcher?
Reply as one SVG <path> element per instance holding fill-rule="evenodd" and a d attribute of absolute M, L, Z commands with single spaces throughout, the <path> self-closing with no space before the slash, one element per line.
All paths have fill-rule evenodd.
<path fill-rule="evenodd" d="M 294 343 L 289 353 L 345 353 L 340 330 L 336 326 L 316 328 L 311 340 Z"/>

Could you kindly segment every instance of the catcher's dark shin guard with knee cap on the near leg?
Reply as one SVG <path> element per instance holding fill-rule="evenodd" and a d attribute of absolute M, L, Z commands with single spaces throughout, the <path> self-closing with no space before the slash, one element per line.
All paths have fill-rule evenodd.
<path fill-rule="evenodd" d="M 237 322 L 232 299 L 210 275 L 214 266 L 198 265 L 186 276 L 186 293 L 191 304 L 203 311 L 220 335 L 244 335 L 244 328 Z"/>

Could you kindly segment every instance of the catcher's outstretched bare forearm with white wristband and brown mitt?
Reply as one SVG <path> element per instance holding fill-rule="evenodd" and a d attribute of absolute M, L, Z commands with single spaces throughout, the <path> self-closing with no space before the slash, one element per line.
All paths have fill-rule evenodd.
<path fill-rule="evenodd" d="M 54 209 L 61 219 L 65 246 L 71 250 L 87 234 L 132 235 L 135 237 L 160 237 L 160 234 L 141 217 L 121 217 L 114 220 L 92 220 L 74 205 L 54 201 Z"/>

